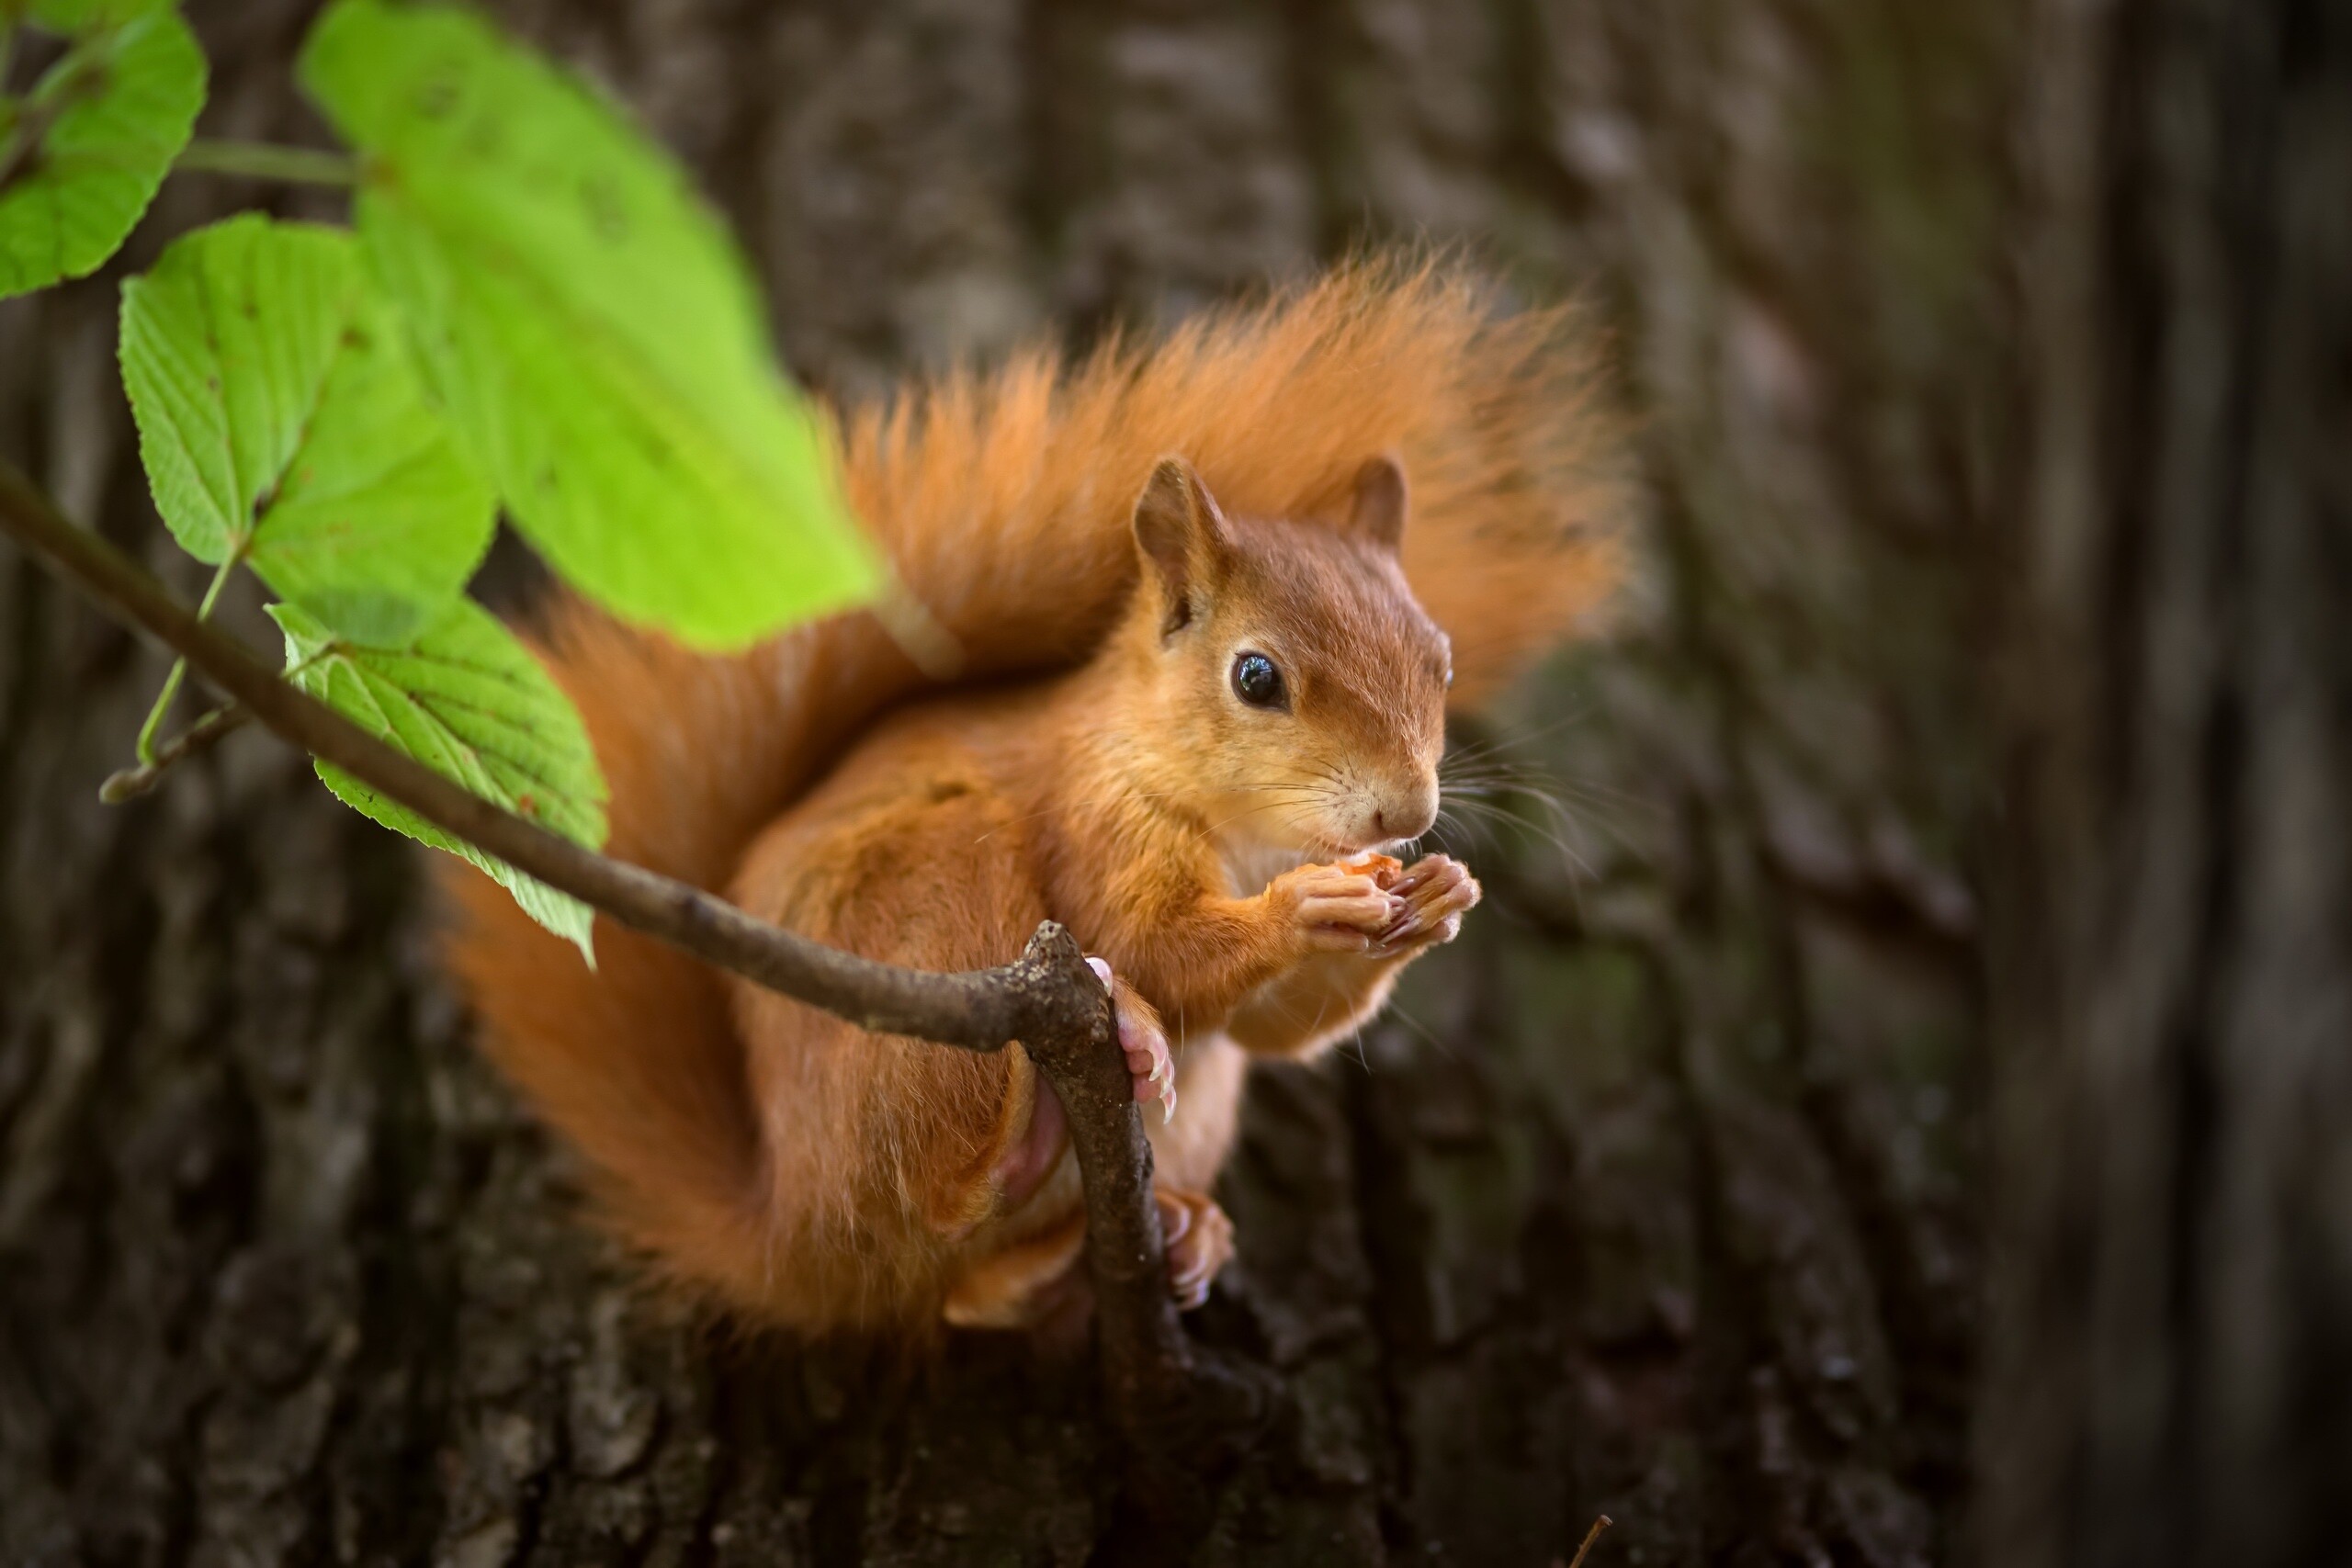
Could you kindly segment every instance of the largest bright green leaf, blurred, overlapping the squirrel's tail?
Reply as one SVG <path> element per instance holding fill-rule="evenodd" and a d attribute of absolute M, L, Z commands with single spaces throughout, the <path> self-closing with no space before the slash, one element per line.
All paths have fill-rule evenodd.
<path fill-rule="evenodd" d="M 701 646 L 873 595 L 750 273 L 659 148 L 454 7 L 341 0 L 299 73 L 367 155 L 428 383 L 564 578 Z"/>

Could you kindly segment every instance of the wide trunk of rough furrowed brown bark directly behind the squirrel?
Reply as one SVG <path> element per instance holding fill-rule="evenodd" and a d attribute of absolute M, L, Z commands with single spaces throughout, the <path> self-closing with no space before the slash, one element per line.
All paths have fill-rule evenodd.
<path fill-rule="evenodd" d="M 207 129 L 313 134 L 310 7 L 191 9 Z M 1463 943 L 1254 1088 L 1197 1324 L 1291 1403 L 1200 1559 L 1545 1563 L 1609 1512 L 1597 1568 L 1952 1561 L 2011 7 L 503 9 L 703 172 L 842 395 L 1367 233 L 1599 299 L 1651 569 L 1496 722 L 1562 809 L 1468 835 Z M 127 263 L 240 195 L 176 181 Z M 0 447 L 162 564 L 111 346 L 111 277 L 0 308 Z M 0 555 L 0 1561 L 1096 1554 L 1082 1366 L 640 1300 L 473 1058 L 416 863 L 296 759 L 101 809 L 160 675 Z"/>

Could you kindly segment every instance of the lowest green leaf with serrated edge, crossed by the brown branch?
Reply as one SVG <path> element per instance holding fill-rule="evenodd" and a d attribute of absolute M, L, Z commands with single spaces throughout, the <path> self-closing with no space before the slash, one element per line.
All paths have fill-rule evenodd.
<path fill-rule="evenodd" d="M 574 844 L 604 844 L 604 773 L 588 729 L 529 649 L 487 609 L 459 599 L 414 646 L 397 651 L 336 642 L 292 604 L 273 604 L 270 616 L 287 635 L 296 686 L 482 799 Z M 480 865 L 532 919 L 595 961 L 586 903 L 485 856 L 332 764 L 320 762 L 318 776 L 393 832 Z"/>

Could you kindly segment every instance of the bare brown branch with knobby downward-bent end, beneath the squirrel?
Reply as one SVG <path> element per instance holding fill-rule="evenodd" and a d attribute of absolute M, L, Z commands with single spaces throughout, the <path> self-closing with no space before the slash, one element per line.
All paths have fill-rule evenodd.
<path fill-rule="evenodd" d="M 967 973 L 898 969 L 811 943 L 696 886 L 581 849 L 395 752 L 198 621 L 111 543 L 66 522 L 7 461 L 0 461 L 0 534 L 108 616 L 186 658 L 270 733 L 623 926 L 863 1030 L 964 1051 L 1000 1051 L 1018 1039 L 1068 1112 L 1087 1199 L 1103 1394 L 1129 1443 L 1141 1502 L 1171 1507 L 1185 1488 L 1171 1490 L 1167 1479 L 1200 1465 L 1214 1448 L 1214 1432 L 1256 1418 L 1258 1392 L 1200 1378 L 1176 1321 L 1152 1204 L 1152 1154 L 1115 1039 L 1110 997 L 1063 926 L 1042 924 L 1014 964 Z"/>

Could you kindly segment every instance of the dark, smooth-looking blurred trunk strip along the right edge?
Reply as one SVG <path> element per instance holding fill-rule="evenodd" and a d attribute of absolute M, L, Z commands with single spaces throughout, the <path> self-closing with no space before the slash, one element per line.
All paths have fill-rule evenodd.
<path fill-rule="evenodd" d="M 2049 5 L 1987 1561 L 2352 1552 L 2352 16 Z"/>

